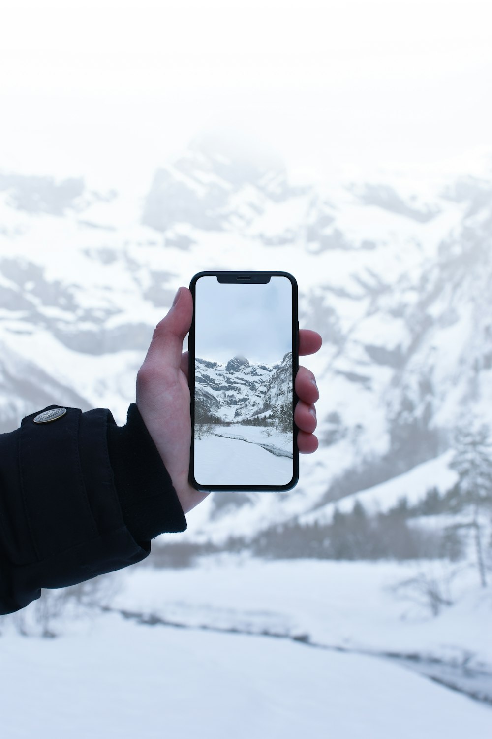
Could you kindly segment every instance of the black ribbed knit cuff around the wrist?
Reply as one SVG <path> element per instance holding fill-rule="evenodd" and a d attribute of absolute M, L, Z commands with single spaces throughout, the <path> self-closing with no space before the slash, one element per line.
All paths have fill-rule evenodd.
<path fill-rule="evenodd" d="M 123 520 L 136 542 L 187 528 L 176 490 L 135 403 L 108 423 L 108 452 Z"/>

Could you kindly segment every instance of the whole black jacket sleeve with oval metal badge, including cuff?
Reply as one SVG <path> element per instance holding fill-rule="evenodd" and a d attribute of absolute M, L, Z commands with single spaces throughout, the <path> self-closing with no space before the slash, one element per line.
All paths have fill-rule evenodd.
<path fill-rule="evenodd" d="M 122 427 L 105 409 L 37 415 L 0 435 L 0 614 L 139 562 L 150 539 L 186 528 L 136 405 Z"/>

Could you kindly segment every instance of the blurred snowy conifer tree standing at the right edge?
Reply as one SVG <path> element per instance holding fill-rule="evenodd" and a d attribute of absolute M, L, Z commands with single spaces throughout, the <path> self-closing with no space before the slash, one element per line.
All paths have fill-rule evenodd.
<path fill-rule="evenodd" d="M 483 424 L 474 429 L 473 423 L 458 429 L 456 454 L 451 468 L 457 471 L 459 499 L 462 508 L 471 511 L 468 527 L 474 531 L 477 568 L 482 588 L 487 585 L 485 571 L 482 514 L 492 511 L 492 443 L 490 430 Z"/>

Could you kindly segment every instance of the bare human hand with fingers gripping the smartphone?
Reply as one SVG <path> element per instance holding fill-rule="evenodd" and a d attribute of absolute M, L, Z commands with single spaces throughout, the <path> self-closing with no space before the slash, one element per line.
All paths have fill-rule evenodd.
<path fill-rule="evenodd" d="M 162 461 L 173 480 L 179 502 L 186 514 L 208 493 L 188 482 L 190 468 L 191 419 L 188 386 L 188 353 L 183 340 L 193 318 L 193 298 L 187 287 L 180 287 L 167 316 L 153 332 L 147 356 L 136 376 L 136 405 L 153 438 Z M 299 331 L 299 355 L 314 354 L 322 338 L 316 331 Z M 299 401 L 294 420 L 299 428 L 299 452 L 311 454 L 318 448 L 314 403 L 319 392 L 314 375 L 299 367 L 295 381 Z"/>

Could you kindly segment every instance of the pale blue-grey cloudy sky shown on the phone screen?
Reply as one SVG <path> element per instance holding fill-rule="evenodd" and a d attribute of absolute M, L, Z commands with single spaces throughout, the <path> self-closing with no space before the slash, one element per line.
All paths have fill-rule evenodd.
<path fill-rule="evenodd" d="M 285 277 L 266 285 L 196 283 L 195 355 L 226 364 L 237 355 L 250 364 L 280 362 L 292 351 L 292 288 Z"/>

